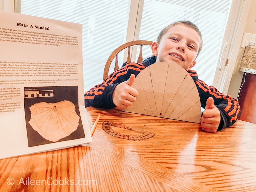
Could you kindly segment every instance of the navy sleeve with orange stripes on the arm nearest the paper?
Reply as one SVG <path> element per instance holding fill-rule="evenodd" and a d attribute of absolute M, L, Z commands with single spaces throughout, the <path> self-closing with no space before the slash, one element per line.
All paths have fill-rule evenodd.
<path fill-rule="evenodd" d="M 101 84 L 95 85 L 84 93 L 85 107 L 116 107 L 112 100 L 116 85 L 127 81 L 131 74 L 137 76 L 145 68 L 143 64 L 132 62 L 127 62 L 125 65 L 123 64 L 123 66 L 124 67 L 111 73 Z"/>

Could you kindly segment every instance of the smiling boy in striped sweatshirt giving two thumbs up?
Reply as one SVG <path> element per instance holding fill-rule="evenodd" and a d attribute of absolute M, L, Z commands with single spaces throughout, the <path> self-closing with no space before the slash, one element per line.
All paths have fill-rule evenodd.
<path fill-rule="evenodd" d="M 126 108 L 138 96 L 132 84 L 144 68 L 161 62 L 172 61 L 184 68 L 195 81 L 201 106 L 205 108 L 201 117 L 202 129 L 216 132 L 236 122 L 240 106 L 230 95 L 220 93 L 213 86 L 199 80 L 196 71 L 190 70 L 196 64 L 196 57 L 202 49 L 202 35 L 190 21 L 178 21 L 165 27 L 151 45 L 154 56 L 140 63 L 126 62 L 101 84 L 84 94 L 85 107 Z"/>

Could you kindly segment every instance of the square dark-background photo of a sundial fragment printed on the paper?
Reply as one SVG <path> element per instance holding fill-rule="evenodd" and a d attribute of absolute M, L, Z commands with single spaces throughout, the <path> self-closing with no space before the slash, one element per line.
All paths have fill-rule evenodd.
<path fill-rule="evenodd" d="M 25 87 L 28 147 L 84 138 L 77 86 Z"/>

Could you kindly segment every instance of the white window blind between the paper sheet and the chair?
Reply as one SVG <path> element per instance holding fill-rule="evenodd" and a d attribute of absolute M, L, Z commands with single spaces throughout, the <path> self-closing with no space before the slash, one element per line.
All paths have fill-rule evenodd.
<path fill-rule="evenodd" d="M 21 1 L 22 14 L 83 24 L 84 92 L 102 82 L 109 55 L 125 43 L 129 9 L 127 0 Z"/>

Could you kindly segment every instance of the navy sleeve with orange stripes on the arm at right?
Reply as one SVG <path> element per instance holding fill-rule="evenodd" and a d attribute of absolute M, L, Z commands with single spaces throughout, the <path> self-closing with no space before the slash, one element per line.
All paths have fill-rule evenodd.
<path fill-rule="evenodd" d="M 221 122 L 218 131 L 236 122 L 237 117 L 240 115 L 238 100 L 232 98 L 230 95 L 220 93 L 215 87 L 208 86 L 200 79 L 197 79 L 196 86 L 199 92 L 201 106 L 205 108 L 206 100 L 212 97 L 214 105 L 220 110 Z"/>

